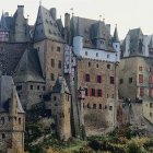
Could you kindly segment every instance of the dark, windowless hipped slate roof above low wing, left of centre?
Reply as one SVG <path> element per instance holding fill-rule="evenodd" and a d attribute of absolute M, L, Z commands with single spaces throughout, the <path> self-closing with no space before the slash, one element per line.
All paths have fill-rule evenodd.
<path fill-rule="evenodd" d="M 13 74 L 14 82 L 45 82 L 36 49 L 26 49 Z"/>

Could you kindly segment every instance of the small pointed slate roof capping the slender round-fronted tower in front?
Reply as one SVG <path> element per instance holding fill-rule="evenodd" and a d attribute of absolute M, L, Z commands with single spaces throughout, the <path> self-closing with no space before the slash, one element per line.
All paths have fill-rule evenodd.
<path fill-rule="evenodd" d="M 63 76 L 58 76 L 55 86 L 52 87 L 52 93 L 68 93 L 70 94 L 68 84 Z"/>

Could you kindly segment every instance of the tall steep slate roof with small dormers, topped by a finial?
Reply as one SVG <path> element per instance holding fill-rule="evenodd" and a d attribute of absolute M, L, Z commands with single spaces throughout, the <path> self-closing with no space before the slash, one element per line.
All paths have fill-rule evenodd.
<path fill-rule="evenodd" d="M 61 26 L 61 25 L 60 25 Z M 34 42 L 45 38 L 64 42 L 60 33 L 59 21 L 57 22 L 49 10 L 43 5 L 38 9 L 37 20 L 35 23 Z"/>

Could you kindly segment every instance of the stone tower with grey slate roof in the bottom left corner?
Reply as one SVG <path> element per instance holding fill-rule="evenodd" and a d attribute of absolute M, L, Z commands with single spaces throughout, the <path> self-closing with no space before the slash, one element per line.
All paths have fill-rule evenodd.
<path fill-rule="evenodd" d="M 11 76 L 0 76 L 0 152 L 24 151 L 25 115 Z"/>

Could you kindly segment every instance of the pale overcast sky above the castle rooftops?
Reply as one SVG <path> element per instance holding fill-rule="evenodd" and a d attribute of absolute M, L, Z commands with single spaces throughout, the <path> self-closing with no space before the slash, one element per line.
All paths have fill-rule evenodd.
<path fill-rule="evenodd" d="M 1 0 L 0 14 L 9 12 L 13 15 L 17 5 L 24 5 L 24 16 L 30 15 L 30 24 L 34 24 L 40 0 Z M 42 0 L 42 5 L 47 9 L 56 8 L 57 16 L 64 20 L 64 13 L 75 16 L 103 20 L 115 25 L 118 35 L 123 39 L 129 30 L 141 27 L 143 34 L 153 34 L 153 0 Z M 102 15 L 102 17 L 99 17 Z"/>

